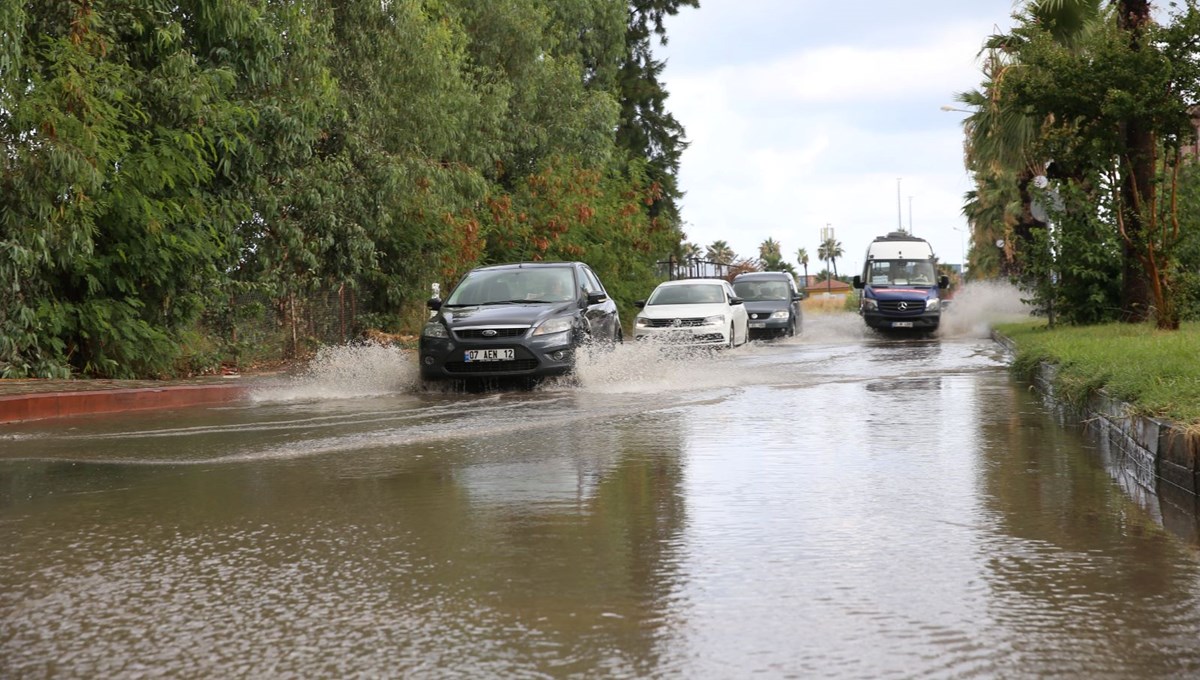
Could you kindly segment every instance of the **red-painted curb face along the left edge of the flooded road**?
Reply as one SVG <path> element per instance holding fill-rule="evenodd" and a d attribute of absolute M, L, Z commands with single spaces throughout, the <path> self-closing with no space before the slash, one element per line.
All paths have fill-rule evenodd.
<path fill-rule="evenodd" d="M 0 423 L 220 404 L 241 399 L 248 391 L 247 385 L 172 385 L 16 395 L 0 397 Z"/>

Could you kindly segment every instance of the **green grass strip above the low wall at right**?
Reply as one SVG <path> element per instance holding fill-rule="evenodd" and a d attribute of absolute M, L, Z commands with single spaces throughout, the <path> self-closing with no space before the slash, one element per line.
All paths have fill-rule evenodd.
<path fill-rule="evenodd" d="M 1058 366 L 1055 389 L 1073 404 L 1103 389 L 1136 414 L 1200 427 L 1200 323 L 1178 331 L 1150 324 L 1056 326 L 997 324 L 1016 345 L 1013 371 L 1031 380 L 1038 363 Z"/>

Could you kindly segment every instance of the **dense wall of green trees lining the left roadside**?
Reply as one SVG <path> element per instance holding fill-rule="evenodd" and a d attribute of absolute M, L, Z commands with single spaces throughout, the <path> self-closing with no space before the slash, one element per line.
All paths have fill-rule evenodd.
<path fill-rule="evenodd" d="M 628 303 L 680 241 L 649 41 L 696 5 L 0 0 L 0 374 L 211 369 L 250 293 L 412 331 L 500 260 Z"/>

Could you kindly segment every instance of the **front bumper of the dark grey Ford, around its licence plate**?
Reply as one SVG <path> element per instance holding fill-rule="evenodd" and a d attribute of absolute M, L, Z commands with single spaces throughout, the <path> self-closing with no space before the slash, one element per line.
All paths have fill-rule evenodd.
<path fill-rule="evenodd" d="M 421 337 L 419 359 L 426 380 L 470 380 L 478 378 L 542 378 L 570 373 L 575 367 L 571 332 L 542 337 L 470 339 Z M 468 361 L 469 350 L 512 350 L 504 361 Z"/>

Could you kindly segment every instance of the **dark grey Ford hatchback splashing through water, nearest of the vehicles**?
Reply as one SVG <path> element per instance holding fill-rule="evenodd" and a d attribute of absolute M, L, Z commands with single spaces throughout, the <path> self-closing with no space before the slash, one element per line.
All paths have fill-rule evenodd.
<path fill-rule="evenodd" d="M 421 378 L 469 380 L 569 373 L 580 344 L 620 342 L 617 303 L 583 263 L 473 269 L 421 331 Z"/>

